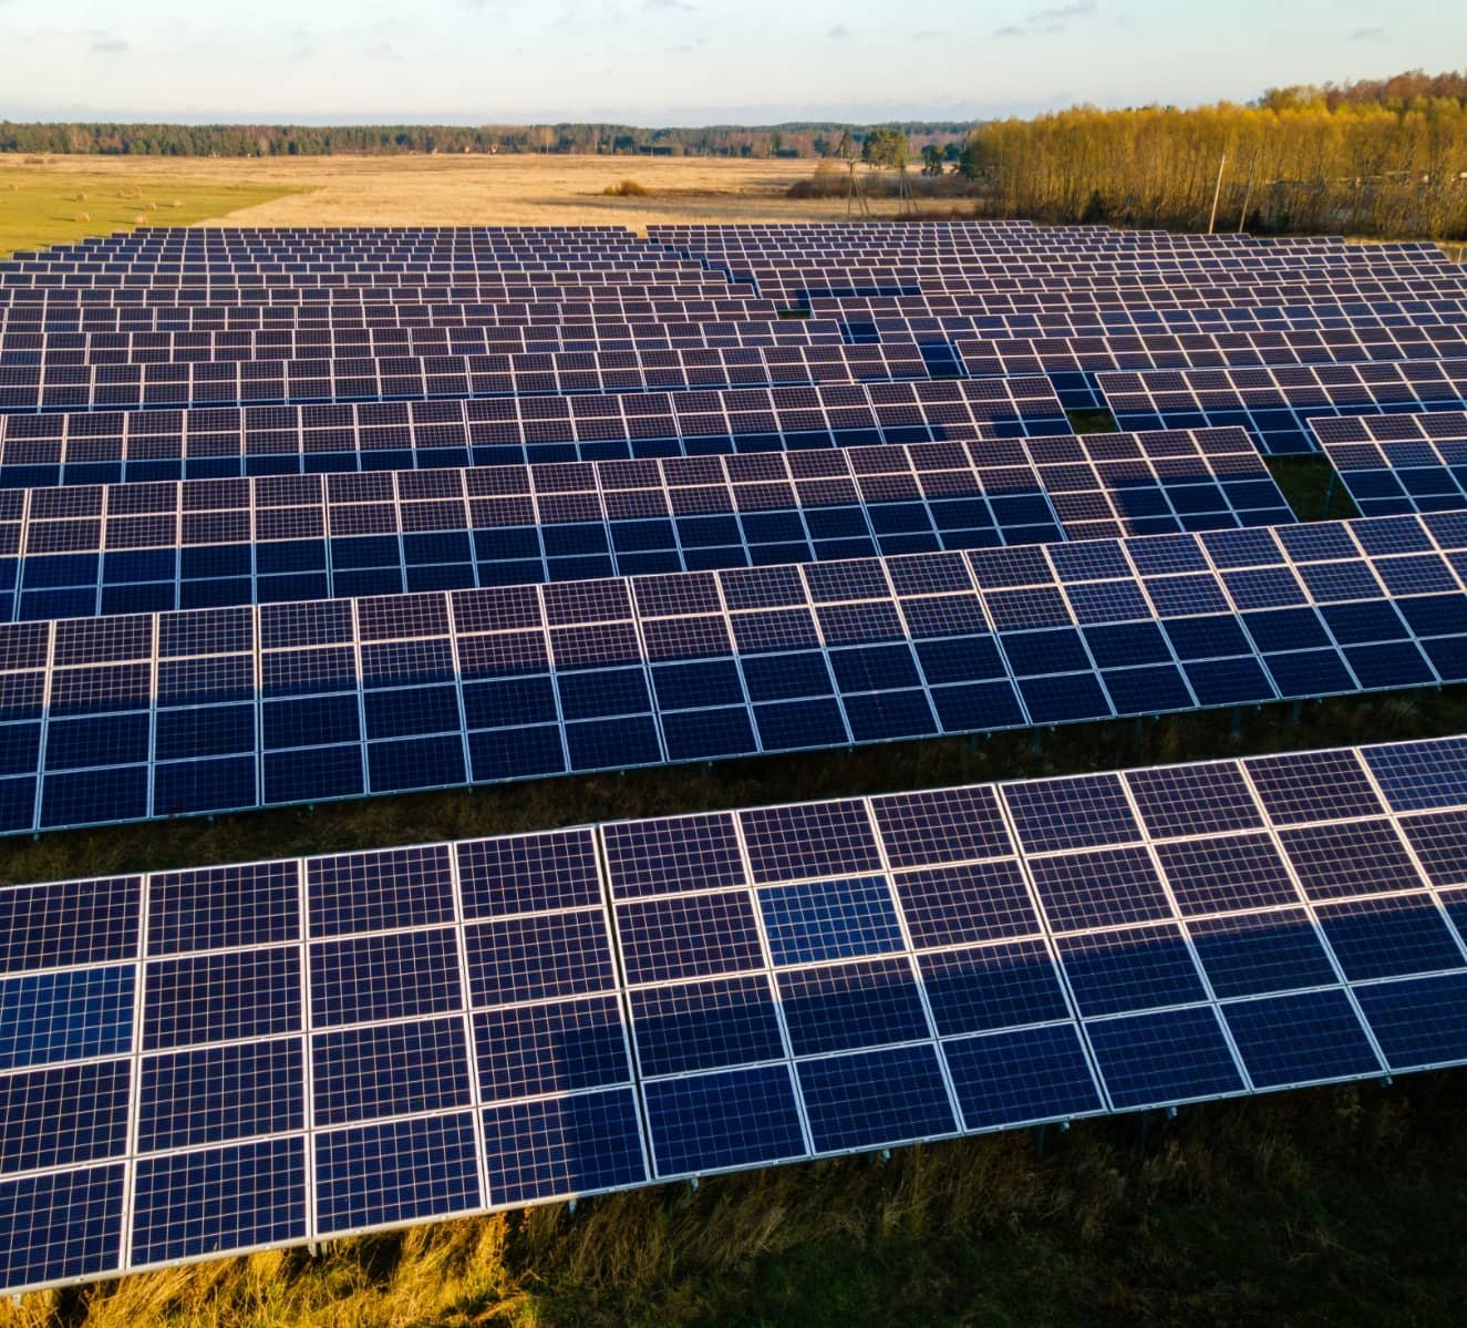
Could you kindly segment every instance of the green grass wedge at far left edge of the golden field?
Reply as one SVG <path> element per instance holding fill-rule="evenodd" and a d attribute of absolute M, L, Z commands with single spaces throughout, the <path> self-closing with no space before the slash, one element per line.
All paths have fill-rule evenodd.
<path fill-rule="evenodd" d="M 44 166 L 0 170 L 0 255 L 132 230 L 138 217 L 150 226 L 189 226 L 293 192 L 301 191 L 185 175 L 62 173 Z"/>

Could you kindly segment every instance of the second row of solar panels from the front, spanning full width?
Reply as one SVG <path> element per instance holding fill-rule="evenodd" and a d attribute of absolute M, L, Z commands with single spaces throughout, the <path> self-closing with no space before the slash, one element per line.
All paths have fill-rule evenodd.
<path fill-rule="evenodd" d="M 0 828 L 1467 679 L 1467 518 L 0 628 Z"/>

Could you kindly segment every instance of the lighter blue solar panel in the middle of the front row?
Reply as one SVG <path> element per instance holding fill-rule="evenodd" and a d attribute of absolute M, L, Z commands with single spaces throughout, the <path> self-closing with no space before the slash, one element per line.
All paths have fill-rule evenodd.
<path fill-rule="evenodd" d="M 760 891 L 775 964 L 810 964 L 901 949 L 902 935 L 883 876 L 819 880 Z"/>

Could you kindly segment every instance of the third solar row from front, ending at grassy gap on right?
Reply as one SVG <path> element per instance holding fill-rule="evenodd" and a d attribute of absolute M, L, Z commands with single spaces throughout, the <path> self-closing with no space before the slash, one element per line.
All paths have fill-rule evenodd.
<path fill-rule="evenodd" d="M 0 621 L 1294 519 L 1241 430 L 0 492 Z"/>

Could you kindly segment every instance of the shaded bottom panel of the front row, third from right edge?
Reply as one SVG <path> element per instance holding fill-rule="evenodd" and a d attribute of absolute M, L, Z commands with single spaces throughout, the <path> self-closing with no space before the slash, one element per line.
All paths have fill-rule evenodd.
<path fill-rule="evenodd" d="M 1244 1090 L 1218 1017 L 1207 1007 L 1131 1014 L 1086 1024 L 1118 1111 Z"/>

